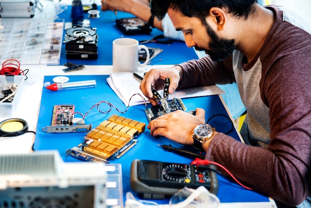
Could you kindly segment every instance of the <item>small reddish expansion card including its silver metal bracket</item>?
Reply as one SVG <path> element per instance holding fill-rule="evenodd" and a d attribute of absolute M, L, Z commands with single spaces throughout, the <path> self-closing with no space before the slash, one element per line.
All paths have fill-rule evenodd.
<path fill-rule="evenodd" d="M 85 132 L 92 124 L 85 124 L 82 118 L 74 120 L 75 105 L 54 105 L 51 126 L 42 128 L 46 133 Z"/>

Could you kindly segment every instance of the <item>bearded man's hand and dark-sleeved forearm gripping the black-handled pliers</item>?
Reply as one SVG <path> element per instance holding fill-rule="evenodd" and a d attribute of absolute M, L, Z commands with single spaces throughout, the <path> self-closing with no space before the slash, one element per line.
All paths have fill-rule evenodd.
<path fill-rule="evenodd" d="M 140 90 L 149 98 L 151 104 L 157 102 L 153 97 L 151 85 L 156 90 L 163 88 L 163 80 L 170 78 L 169 94 L 174 93 L 177 88 L 190 88 L 209 86 L 215 84 L 233 83 L 234 75 L 232 69 L 232 58 L 224 62 L 213 62 L 208 56 L 199 60 L 190 60 L 179 65 L 168 68 L 154 68 L 146 73 L 141 82 Z"/>

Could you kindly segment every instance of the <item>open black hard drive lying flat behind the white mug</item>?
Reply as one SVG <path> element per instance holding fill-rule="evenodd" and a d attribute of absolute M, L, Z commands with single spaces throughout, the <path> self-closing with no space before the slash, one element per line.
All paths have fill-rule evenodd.
<path fill-rule="evenodd" d="M 149 34 L 152 28 L 140 18 L 118 18 L 117 27 L 126 35 Z"/>

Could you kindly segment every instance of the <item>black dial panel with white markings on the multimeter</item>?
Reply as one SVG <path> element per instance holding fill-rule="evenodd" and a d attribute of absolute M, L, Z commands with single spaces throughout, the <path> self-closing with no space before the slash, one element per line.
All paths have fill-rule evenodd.
<path fill-rule="evenodd" d="M 162 177 L 165 181 L 189 183 L 190 182 L 190 166 L 183 164 L 163 163 Z"/>

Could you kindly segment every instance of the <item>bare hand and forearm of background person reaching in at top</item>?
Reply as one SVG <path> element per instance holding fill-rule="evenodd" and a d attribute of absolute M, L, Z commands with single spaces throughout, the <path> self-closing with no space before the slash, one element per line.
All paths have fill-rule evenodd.
<path fill-rule="evenodd" d="M 147 1 L 141 1 L 141 0 L 101 0 L 101 10 L 119 10 L 119 11 L 125 11 L 128 13 L 131 13 L 135 15 L 136 17 L 142 19 L 145 22 L 149 22 L 151 15 L 150 6 L 147 4 Z M 159 30 L 162 29 L 161 21 L 157 20 L 156 17 L 154 17 L 153 21 L 154 27 L 156 27 Z"/>

